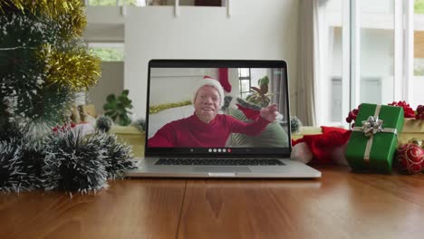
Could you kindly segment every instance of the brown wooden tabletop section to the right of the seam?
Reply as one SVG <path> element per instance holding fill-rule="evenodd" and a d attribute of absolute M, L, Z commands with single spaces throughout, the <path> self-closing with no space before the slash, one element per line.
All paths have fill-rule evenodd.
<path fill-rule="evenodd" d="M 424 175 L 319 180 L 189 180 L 178 238 L 417 238 Z"/>

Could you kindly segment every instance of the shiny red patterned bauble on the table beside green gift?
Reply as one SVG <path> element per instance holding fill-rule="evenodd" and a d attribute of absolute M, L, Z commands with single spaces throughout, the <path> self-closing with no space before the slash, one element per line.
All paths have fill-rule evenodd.
<path fill-rule="evenodd" d="M 416 144 L 405 144 L 398 149 L 400 169 L 410 174 L 418 174 L 424 168 L 424 149 Z"/>

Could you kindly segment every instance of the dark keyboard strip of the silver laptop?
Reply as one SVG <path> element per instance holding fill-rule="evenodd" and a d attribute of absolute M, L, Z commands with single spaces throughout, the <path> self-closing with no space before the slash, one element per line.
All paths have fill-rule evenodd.
<path fill-rule="evenodd" d="M 219 158 L 159 158 L 155 165 L 213 165 L 213 166 L 275 166 L 284 165 L 275 158 L 219 159 Z"/>

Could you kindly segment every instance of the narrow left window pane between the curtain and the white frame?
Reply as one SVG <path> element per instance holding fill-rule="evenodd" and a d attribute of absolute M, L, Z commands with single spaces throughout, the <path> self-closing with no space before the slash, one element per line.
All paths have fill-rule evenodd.
<path fill-rule="evenodd" d="M 346 1 L 317 1 L 318 10 L 320 71 L 316 85 L 316 105 L 318 125 L 342 126 L 343 110 L 348 110 L 349 75 L 344 71 L 345 59 L 349 55 L 349 43 L 344 43 L 345 31 L 343 3 Z M 345 109 L 344 109 L 345 108 Z"/>

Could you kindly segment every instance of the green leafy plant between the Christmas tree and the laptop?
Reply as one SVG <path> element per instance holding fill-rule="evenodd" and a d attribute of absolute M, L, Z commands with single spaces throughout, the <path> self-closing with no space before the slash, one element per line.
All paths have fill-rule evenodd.
<path fill-rule="evenodd" d="M 118 97 L 115 94 L 110 94 L 106 98 L 107 102 L 103 105 L 104 114 L 121 126 L 127 126 L 131 123 L 128 115 L 132 113 L 127 109 L 132 109 L 132 101 L 128 98 L 128 94 L 128 90 L 122 91 Z"/>

